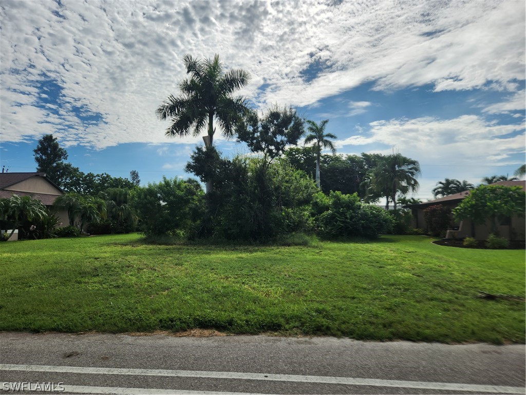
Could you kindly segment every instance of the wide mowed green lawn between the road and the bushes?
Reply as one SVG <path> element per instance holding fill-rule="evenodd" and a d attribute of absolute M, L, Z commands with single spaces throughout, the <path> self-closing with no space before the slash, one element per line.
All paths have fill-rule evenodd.
<path fill-rule="evenodd" d="M 524 342 L 524 250 L 425 236 L 311 246 L 149 245 L 138 234 L 0 244 L 0 330 L 277 332 Z"/>

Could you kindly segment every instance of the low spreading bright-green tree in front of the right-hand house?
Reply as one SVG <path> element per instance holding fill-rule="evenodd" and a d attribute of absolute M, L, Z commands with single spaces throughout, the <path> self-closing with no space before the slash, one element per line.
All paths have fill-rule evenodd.
<path fill-rule="evenodd" d="M 454 218 L 471 219 L 476 224 L 490 221 L 490 232 L 499 235 L 499 218 L 524 215 L 526 193 L 520 186 L 480 185 L 453 209 Z"/>

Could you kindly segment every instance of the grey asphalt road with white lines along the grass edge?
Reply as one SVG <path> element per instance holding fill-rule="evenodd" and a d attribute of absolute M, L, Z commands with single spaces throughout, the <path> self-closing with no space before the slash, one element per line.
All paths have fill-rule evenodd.
<path fill-rule="evenodd" d="M 525 369 L 520 344 L 0 333 L 0 394 L 524 394 Z"/>

